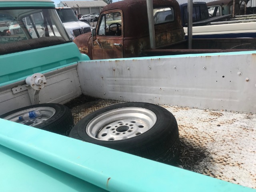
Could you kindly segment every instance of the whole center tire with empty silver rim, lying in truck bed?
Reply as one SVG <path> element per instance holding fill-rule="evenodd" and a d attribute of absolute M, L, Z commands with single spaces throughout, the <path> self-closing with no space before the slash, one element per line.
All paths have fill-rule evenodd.
<path fill-rule="evenodd" d="M 94 111 L 69 136 L 166 164 L 175 165 L 178 160 L 176 119 L 154 104 L 131 102 Z"/>

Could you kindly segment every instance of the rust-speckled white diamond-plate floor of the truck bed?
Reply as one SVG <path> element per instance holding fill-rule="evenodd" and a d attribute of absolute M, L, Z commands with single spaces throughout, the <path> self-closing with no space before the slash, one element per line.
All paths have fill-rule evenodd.
<path fill-rule="evenodd" d="M 75 123 L 112 104 L 81 96 L 66 104 Z M 256 188 L 256 114 L 166 106 L 180 134 L 180 167 L 221 180 Z"/>

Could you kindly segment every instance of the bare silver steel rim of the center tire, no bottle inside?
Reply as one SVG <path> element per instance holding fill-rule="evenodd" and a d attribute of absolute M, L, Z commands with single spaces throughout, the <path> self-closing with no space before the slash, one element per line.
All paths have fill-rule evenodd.
<path fill-rule="evenodd" d="M 124 140 L 144 134 L 155 123 L 156 114 L 151 110 L 138 107 L 118 108 L 92 119 L 86 126 L 86 133 L 98 140 Z"/>

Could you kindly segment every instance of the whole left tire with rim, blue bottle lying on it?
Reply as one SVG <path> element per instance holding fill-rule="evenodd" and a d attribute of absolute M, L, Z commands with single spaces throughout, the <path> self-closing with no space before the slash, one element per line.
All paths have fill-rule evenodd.
<path fill-rule="evenodd" d="M 22 114 L 39 109 L 42 116 L 30 120 L 19 120 Z M 62 104 L 37 104 L 10 111 L 0 118 L 25 124 L 42 130 L 68 136 L 74 126 L 74 120 L 70 109 Z"/>

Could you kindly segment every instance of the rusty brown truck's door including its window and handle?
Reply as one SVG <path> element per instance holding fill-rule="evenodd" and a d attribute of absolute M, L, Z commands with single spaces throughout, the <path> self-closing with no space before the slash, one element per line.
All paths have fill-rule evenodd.
<path fill-rule="evenodd" d="M 120 11 L 101 14 L 93 41 L 93 59 L 123 58 L 123 26 Z"/>

